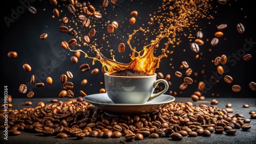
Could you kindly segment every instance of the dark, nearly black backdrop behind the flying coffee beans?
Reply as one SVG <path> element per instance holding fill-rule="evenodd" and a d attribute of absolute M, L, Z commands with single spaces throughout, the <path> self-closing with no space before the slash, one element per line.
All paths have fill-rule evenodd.
<path fill-rule="evenodd" d="M 28 12 L 21 2 L 27 2 L 26 5 L 34 6 L 37 9 L 37 13 L 32 14 Z M 66 33 L 60 33 L 58 30 L 58 27 L 61 25 L 59 19 L 65 15 L 72 17 L 67 9 L 63 7 L 63 4 L 67 5 L 69 2 L 58 2 L 60 7 L 52 6 L 49 4 L 49 1 L 46 0 L 41 2 L 35 0 L 3 1 L 1 5 L 3 17 L 9 17 L 14 20 L 10 22 L 8 26 L 4 18 L 2 18 L 1 39 L 1 81 L 3 86 L 8 86 L 8 93 L 11 94 L 13 98 L 27 98 L 26 94 L 31 90 L 34 91 L 34 97 L 36 98 L 58 98 L 58 94 L 62 90 L 62 84 L 59 82 L 59 78 L 62 74 L 66 74 L 66 71 L 71 71 L 74 75 L 74 78 L 69 81 L 74 83 L 72 91 L 75 93 L 75 97 L 81 96 L 79 90 L 83 90 L 89 95 L 98 93 L 100 88 L 104 88 L 100 62 L 97 61 L 95 65 L 92 65 L 92 59 L 83 58 L 84 55 L 81 54 L 78 63 L 74 64 L 70 61 L 70 57 L 73 56 L 74 53 L 62 49 L 60 45 L 61 41 L 69 41 L 74 37 Z M 131 54 L 131 51 L 126 44 L 128 38 L 127 34 L 131 34 L 133 30 L 137 30 L 139 27 L 148 27 L 151 31 L 158 28 L 158 25 L 149 26 L 147 22 L 150 21 L 150 14 L 154 15 L 154 12 L 158 11 L 158 8 L 161 6 L 160 1 L 118 1 L 115 7 L 110 3 L 105 9 L 102 8 L 102 1 L 89 2 L 103 15 L 102 19 L 92 22 L 96 26 L 95 29 L 97 33 L 94 38 L 91 38 L 91 42 L 96 41 L 99 45 L 98 47 L 101 47 L 101 52 L 105 57 L 111 58 L 110 50 L 113 49 L 117 61 L 129 63 L 129 54 Z M 255 26 L 252 22 L 255 18 L 255 11 L 253 5 L 249 2 L 238 0 L 236 2 L 228 1 L 225 5 L 221 5 L 217 1 L 212 1 L 211 6 L 212 10 L 209 10 L 209 14 L 214 16 L 214 19 L 198 19 L 198 21 L 196 21 L 198 25 L 196 30 L 193 30 L 194 28 L 190 30 L 184 28 L 184 32 L 189 34 L 190 31 L 194 37 L 196 36 L 196 32 L 201 29 L 204 34 L 202 38 L 204 45 L 200 46 L 200 52 L 192 52 L 190 50 L 188 36 L 183 36 L 181 35 L 183 32 L 180 32 L 178 37 L 181 38 L 181 43 L 176 45 L 175 48 L 172 48 L 172 45 L 169 46 L 169 51 L 174 51 L 174 54 L 168 54 L 167 58 L 161 60 L 160 67 L 157 68 L 156 73 L 161 72 L 164 76 L 167 74 L 172 76 L 170 79 L 172 85 L 169 86 L 169 90 L 166 94 L 169 94 L 169 91 L 172 90 L 172 95 L 176 95 L 177 97 L 190 97 L 190 95 L 197 90 L 198 82 L 204 81 L 206 82 L 206 91 L 202 92 L 202 94 L 205 97 L 255 98 L 256 91 L 251 90 L 248 86 L 250 82 L 256 82 L 256 71 L 254 70 L 254 41 L 256 41 L 256 38 Z M 60 13 L 59 17 L 52 18 L 52 10 L 54 8 L 63 11 Z M 17 12 L 17 10 L 19 10 L 20 13 L 13 17 L 13 11 Z M 138 11 L 138 16 L 136 17 L 136 23 L 130 25 L 130 13 L 133 10 Z M 217 11 L 217 13 L 214 11 Z M 119 23 L 119 28 L 111 35 L 106 32 L 105 23 L 108 20 L 110 20 L 110 22 L 116 20 Z M 224 36 L 219 38 L 219 44 L 211 46 L 210 40 L 214 38 L 215 32 L 218 31 L 216 27 L 221 23 L 227 23 L 228 27 L 224 31 Z M 238 23 L 243 23 L 245 27 L 243 34 L 237 31 L 236 26 Z M 70 25 L 73 24 L 74 23 L 71 22 Z M 78 25 L 80 24 L 78 23 Z M 93 26 L 93 24 L 91 25 Z M 83 29 L 82 32 L 84 34 L 87 34 L 90 30 L 89 28 Z M 45 40 L 40 39 L 39 36 L 42 33 L 47 33 L 48 38 Z M 132 46 L 136 46 L 138 49 L 141 49 L 143 45 L 149 44 L 148 42 L 150 42 L 151 39 L 156 38 L 156 35 L 151 36 L 150 33 L 147 33 L 146 36 L 143 36 L 142 33 L 140 34 L 141 35 L 138 35 L 134 41 L 131 42 Z M 103 35 L 105 40 L 102 40 Z M 148 38 L 148 40 L 144 41 L 145 38 Z M 209 41 L 207 41 L 207 39 L 209 39 Z M 243 45 L 246 44 L 245 39 L 251 39 L 251 41 L 254 42 L 249 51 L 243 51 Z M 109 41 L 109 43 L 106 41 Z M 192 41 L 194 41 L 194 39 L 192 39 Z M 121 42 L 125 43 L 126 46 L 126 51 L 122 54 L 117 51 L 118 44 Z M 138 43 L 140 43 L 140 45 L 138 45 Z M 81 49 L 85 52 L 90 51 L 89 48 L 85 46 L 74 46 L 72 49 Z M 209 49 L 211 49 L 212 52 L 208 52 Z M 16 51 L 18 57 L 8 58 L 7 53 L 9 51 Z M 95 56 L 92 52 L 88 54 L 92 57 Z M 199 59 L 195 59 L 197 54 L 200 55 Z M 218 75 L 219 78 L 216 78 L 219 80 L 219 83 L 215 81 L 210 82 L 212 76 L 216 77 L 214 73 L 217 73 L 217 66 L 212 63 L 212 60 L 223 54 L 230 57 L 225 64 L 228 69 L 226 69 L 223 75 Z M 234 54 L 238 55 L 238 59 L 233 57 Z M 251 54 L 252 58 L 249 61 L 244 61 L 242 56 L 245 54 Z M 172 61 L 170 59 L 172 59 Z M 179 68 L 182 61 L 186 61 L 189 67 L 193 69 L 193 72 L 198 73 L 197 77 L 193 75 L 190 76 L 190 78 L 194 80 L 194 83 L 188 85 L 183 91 L 179 89 L 180 84 L 183 83 L 186 70 Z M 52 62 L 55 62 L 57 66 L 53 68 Z M 30 72 L 23 69 L 24 63 L 31 65 L 32 70 Z M 90 64 L 90 71 L 81 73 L 79 66 L 82 63 Z M 172 64 L 171 66 L 170 63 Z M 172 68 L 172 66 L 174 68 Z M 97 75 L 91 74 L 91 70 L 94 68 L 100 70 Z M 202 70 L 204 71 L 203 74 L 201 73 Z M 181 71 L 183 77 L 177 78 L 174 75 L 175 71 Z M 47 74 L 47 76 L 44 74 Z M 45 86 L 36 88 L 33 86 L 35 83 L 29 84 L 32 75 L 36 76 L 35 83 L 44 82 Z M 233 78 L 231 84 L 223 80 L 225 75 L 229 75 Z M 46 83 L 46 77 L 48 76 L 53 79 L 52 85 Z M 84 86 L 81 85 L 82 79 L 87 79 L 88 84 Z M 22 83 L 30 87 L 26 94 L 18 92 L 18 87 Z M 232 91 L 231 87 L 234 84 L 241 86 L 242 89 L 240 92 Z"/>

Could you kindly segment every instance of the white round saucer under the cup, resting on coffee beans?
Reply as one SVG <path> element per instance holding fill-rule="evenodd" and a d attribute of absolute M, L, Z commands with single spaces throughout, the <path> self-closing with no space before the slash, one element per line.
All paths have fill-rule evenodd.
<path fill-rule="evenodd" d="M 83 100 L 103 110 L 108 116 L 119 116 L 121 114 L 153 113 L 175 101 L 175 98 L 171 95 L 162 94 L 144 104 L 114 104 L 106 93 L 97 93 L 87 95 L 83 97 Z"/>

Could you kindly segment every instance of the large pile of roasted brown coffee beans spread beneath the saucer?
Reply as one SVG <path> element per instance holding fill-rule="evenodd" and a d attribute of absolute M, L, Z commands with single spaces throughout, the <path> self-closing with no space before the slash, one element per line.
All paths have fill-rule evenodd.
<path fill-rule="evenodd" d="M 233 135 L 237 130 L 247 131 L 251 128 L 248 123 L 256 118 L 254 111 L 249 113 L 251 119 L 245 119 L 244 115 L 229 113 L 227 109 L 173 102 L 154 113 L 111 117 L 82 99 L 70 99 L 35 108 L 9 109 L 7 127 L 10 135 L 20 135 L 26 131 L 77 139 L 123 136 L 126 141 L 145 137 L 181 140 L 183 136 L 210 136 L 213 132 Z M 0 113 L 1 119 L 4 119 L 4 112 L 2 110 Z M 1 129 L 5 127 L 0 126 Z"/>

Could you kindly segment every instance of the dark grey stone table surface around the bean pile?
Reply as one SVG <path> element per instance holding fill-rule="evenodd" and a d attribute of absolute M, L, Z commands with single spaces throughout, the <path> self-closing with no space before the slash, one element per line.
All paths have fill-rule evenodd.
<path fill-rule="evenodd" d="M 50 104 L 52 98 L 33 98 L 33 99 L 23 99 L 23 98 L 14 98 L 12 102 L 12 109 L 22 109 L 29 107 L 36 107 L 39 101 L 45 102 L 45 104 Z M 227 103 L 232 104 L 232 109 L 234 110 L 233 114 L 239 113 L 243 114 L 245 118 L 250 118 L 249 111 L 256 111 L 256 99 L 255 98 L 214 98 L 219 101 L 216 107 L 221 109 L 226 108 Z M 3 99 L 0 99 L 1 105 L 4 103 Z M 60 101 L 68 101 L 68 99 L 62 98 L 58 99 Z M 187 101 L 193 102 L 195 106 L 200 104 L 210 105 L 212 98 L 206 98 L 205 101 L 193 102 L 191 98 L 176 98 L 175 102 L 185 103 Z M 25 102 L 31 101 L 33 105 L 26 106 Z M 244 108 L 243 105 L 248 104 L 249 108 Z M 149 138 L 144 137 L 143 140 L 132 140 L 126 141 L 126 143 L 256 143 L 256 119 L 251 119 L 249 123 L 251 128 L 248 131 L 242 131 L 242 129 L 237 129 L 235 135 L 227 135 L 225 132 L 222 134 L 216 134 L 213 132 L 209 137 L 197 136 L 189 137 L 183 136 L 182 140 L 175 141 L 170 137 L 161 137 L 161 138 Z M 76 137 L 69 138 L 56 138 L 56 136 L 45 136 L 44 134 L 38 133 L 29 133 L 22 131 L 21 135 L 11 136 L 8 135 L 8 140 L 4 139 L 4 130 L 0 130 L 0 143 L 122 143 L 121 141 L 125 140 L 125 137 L 120 138 L 93 138 L 93 137 L 84 137 L 83 139 L 76 139 Z"/>

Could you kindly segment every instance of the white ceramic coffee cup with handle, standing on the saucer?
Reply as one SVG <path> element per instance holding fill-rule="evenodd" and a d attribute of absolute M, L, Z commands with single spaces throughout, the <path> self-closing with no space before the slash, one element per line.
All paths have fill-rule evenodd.
<path fill-rule="evenodd" d="M 115 104 L 143 104 L 151 101 L 168 90 L 164 79 L 157 80 L 157 74 L 152 76 L 112 76 L 104 74 L 105 90 Z M 165 87 L 158 93 L 153 93 L 159 83 Z"/>

